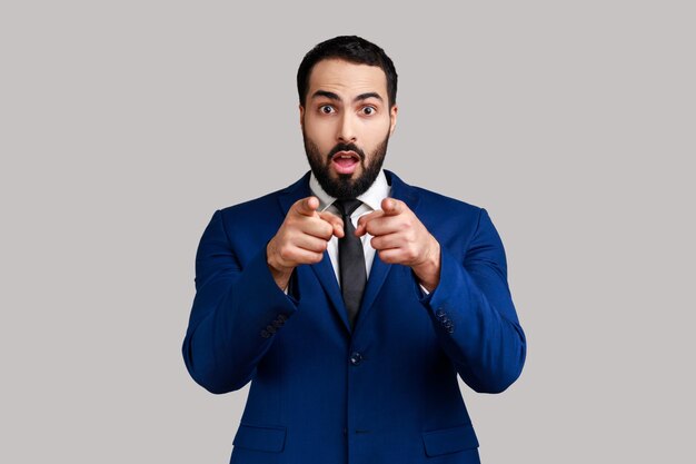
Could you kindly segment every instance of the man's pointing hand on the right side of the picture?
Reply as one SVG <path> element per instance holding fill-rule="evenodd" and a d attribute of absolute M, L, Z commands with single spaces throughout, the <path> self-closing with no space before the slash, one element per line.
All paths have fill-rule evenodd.
<path fill-rule="evenodd" d="M 356 235 L 370 234 L 372 248 L 389 264 L 410 266 L 428 292 L 440 282 L 440 244 L 408 206 L 395 198 L 385 198 L 381 210 L 358 219 Z"/>

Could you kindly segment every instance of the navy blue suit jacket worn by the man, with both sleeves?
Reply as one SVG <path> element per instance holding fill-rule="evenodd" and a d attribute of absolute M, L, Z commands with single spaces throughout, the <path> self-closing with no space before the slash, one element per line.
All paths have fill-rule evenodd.
<path fill-rule="evenodd" d="M 251 382 L 231 463 L 479 462 L 457 374 L 503 392 L 526 354 L 503 244 L 485 209 L 386 174 L 439 241 L 440 283 L 424 296 L 409 267 L 376 254 L 354 329 L 328 255 L 297 267 L 288 295 L 267 266 L 267 243 L 311 195 L 309 172 L 206 228 L 182 351 L 212 393 Z"/>

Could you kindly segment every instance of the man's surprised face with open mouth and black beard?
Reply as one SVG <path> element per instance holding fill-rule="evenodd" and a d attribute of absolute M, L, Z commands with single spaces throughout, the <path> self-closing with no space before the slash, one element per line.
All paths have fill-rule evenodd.
<path fill-rule="evenodd" d="M 339 59 L 315 65 L 300 105 L 300 125 L 307 159 L 327 194 L 355 198 L 372 185 L 396 115 L 380 68 Z"/>

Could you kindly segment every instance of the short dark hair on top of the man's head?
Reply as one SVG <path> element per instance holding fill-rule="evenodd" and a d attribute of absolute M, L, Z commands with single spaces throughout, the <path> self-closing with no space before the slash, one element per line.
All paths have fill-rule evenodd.
<path fill-rule="evenodd" d="M 354 63 L 377 66 L 387 76 L 389 108 L 396 103 L 397 73 L 394 62 L 380 47 L 358 36 L 339 36 L 309 50 L 297 70 L 297 92 L 305 105 L 311 69 L 321 60 L 338 58 Z"/>

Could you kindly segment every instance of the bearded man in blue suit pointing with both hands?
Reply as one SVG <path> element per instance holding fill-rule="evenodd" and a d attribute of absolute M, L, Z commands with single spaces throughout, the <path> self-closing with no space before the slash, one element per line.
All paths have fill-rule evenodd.
<path fill-rule="evenodd" d="M 251 382 L 231 463 L 478 463 L 457 375 L 499 393 L 526 356 L 500 237 L 382 169 L 381 48 L 319 43 L 297 85 L 311 170 L 217 210 L 196 258 L 186 366 L 217 394 Z"/>

